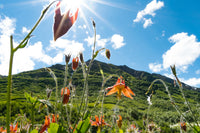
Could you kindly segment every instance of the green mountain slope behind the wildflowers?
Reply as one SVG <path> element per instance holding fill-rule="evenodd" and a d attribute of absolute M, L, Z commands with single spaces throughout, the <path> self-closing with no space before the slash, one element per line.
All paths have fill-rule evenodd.
<path fill-rule="evenodd" d="M 65 66 L 56 64 L 49 68 L 51 68 L 55 73 L 58 79 L 58 86 L 60 90 L 63 87 Z M 117 113 L 126 116 L 126 119 L 138 121 L 140 125 L 142 124 L 142 119 L 146 118 L 147 114 L 149 114 L 149 118 L 152 121 L 159 123 L 161 126 L 169 126 L 170 124 L 179 122 L 180 116 L 174 109 L 169 100 L 168 93 L 161 83 L 156 83 L 153 86 L 153 96 L 151 98 L 151 102 L 153 104 L 148 111 L 149 105 L 147 102 L 147 95 L 145 93 L 147 92 L 151 82 L 155 79 L 162 79 L 167 84 L 172 98 L 183 112 L 188 110 L 184 104 L 184 99 L 178 86 L 174 87 L 174 81 L 172 79 L 155 73 L 150 74 L 144 71 L 137 71 L 127 67 L 126 65 L 116 66 L 96 60 L 93 62 L 88 79 L 90 108 L 93 107 L 94 102 L 96 101 L 96 98 L 101 90 L 102 76 L 100 69 L 103 70 L 105 77 L 108 77 L 111 74 L 123 76 L 126 85 L 129 86 L 136 94 L 133 100 L 123 96 L 119 103 L 116 98 L 116 94 L 106 96 L 104 99 L 104 111 L 107 115 L 112 115 L 113 111 L 117 111 Z M 77 103 L 79 103 L 79 97 L 84 86 L 84 79 L 80 65 L 75 72 L 72 71 L 71 64 L 69 65 L 68 79 L 72 80 L 72 84 L 76 86 Z M 105 84 L 105 88 L 114 85 L 116 81 L 117 77 L 111 78 Z M 7 77 L 0 76 L 0 125 L 1 123 L 5 124 L 6 86 Z M 186 99 L 191 104 L 194 112 L 198 112 L 196 106 L 200 101 L 200 88 L 194 89 L 186 84 L 183 84 L 183 86 Z M 38 96 L 39 98 L 44 98 L 46 95 L 46 88 L 55 88 L 55 82 L 49 72 L 47 72 L 44 68 L 13 75 L 12 119 L 14 119 L 17 113 L 26 113 L 27 117 L 29 116 L 30 111 L 27 109 L 28 105 L 25 105 L 24 92 L 32 93 L 34 96 Z M 52 97 L 55 96 L 54 92 L 55 89 Z M 52 98 L 51 100 L 53 101 L 55 98 Z M 118 104 L 116 105 L 116 103 Z M 98 113 L 99 109 L 96 109 L 96 112 Z M 41 120 L 40 115 L 36 114 L 36 120 Z M 191 121 L 193 120 L 191 119 Z"/>

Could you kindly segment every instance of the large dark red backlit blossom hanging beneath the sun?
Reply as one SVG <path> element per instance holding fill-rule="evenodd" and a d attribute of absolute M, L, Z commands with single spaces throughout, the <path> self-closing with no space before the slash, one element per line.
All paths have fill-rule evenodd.
<path fill-rule="evenodd" d="M 54 26 L 53 26 L 54 41 L 56 41 L 59 37 L 67 33 L 67 31 L 75 23 L 79 11 L 79 9 L 77 8 L 75 14 L 73 15 L 70 13 L 70 10 L 67 13 L 61 15 L 60 4 L 61 2 L 59 1 L 58 4 L 56 5 L 56 10 L 55 10 Z"/>

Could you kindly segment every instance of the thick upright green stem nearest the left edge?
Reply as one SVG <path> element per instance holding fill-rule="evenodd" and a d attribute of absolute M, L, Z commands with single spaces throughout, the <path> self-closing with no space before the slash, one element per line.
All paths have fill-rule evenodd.
<path fill-rule="evenodd" d="M 10 63 L 8 72 L 8 86 L 7 86 L 7 115 L 6 128 L 10 132 L 10 117 L 11 117 L 11 91 L 12 91 L 12 65 L 13 65 L 14 51 L 13 51 L 13 36 L 10 36 Z"/>

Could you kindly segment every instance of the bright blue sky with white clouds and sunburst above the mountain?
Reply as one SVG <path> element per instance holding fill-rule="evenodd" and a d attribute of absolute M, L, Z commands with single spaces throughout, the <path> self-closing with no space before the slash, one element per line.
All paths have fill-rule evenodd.
<path fill-rule="evenodd" d="M 69 8 L 61 7 L 62 12 Z M 75 1 L 75 0 L 73 0 Z M 34 25 L 50 0 L 0 1 L 0 74 L 7 75 L 9 36 L 15 46 Z M 77 2 L 78 3 L 78 2 Z M 97 49 L 106 47 L 98 60 L 172 77 L 170 65 L 177 66 L 181 81 L 200 87 L 200 11 L 198 0 L 82 0 L 76 23 L 67 34 L 53 41 L 55 5 L 33 32 L 25 49 L 15 54 L 13 73 L 64 64 L 64 54 L 85 60 L 91 57 L 96 22 Z"/>

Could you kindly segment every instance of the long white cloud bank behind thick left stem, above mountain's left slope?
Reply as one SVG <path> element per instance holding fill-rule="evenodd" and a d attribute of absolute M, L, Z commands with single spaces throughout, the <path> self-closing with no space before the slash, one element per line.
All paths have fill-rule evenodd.
<path fill-rule="evenodd" d="M 27 31 L 24 28 L 24 31 Z M 10 58 L 10 35 L 15 31 L 15 19 L 0 16 L 0 74 L 7 75 L 9 69 Z M 19 42 L 13 40 L 16 47 Z M 42 42 L 28 44 L 25 48 L 19 49 L 14 56 L 13 74 L 33 70 L 37 62 L 42 62 L 48 65 L 62 63 L 64 61 L 64 53 L 70 49 L 70 53 L 77 54 L 83 51 L 83 44 L 75 41 L 58 39 L 55 43 L 50 44 L 50 48 L 57 53 L 55 57 L 50 57 L 46 54 Z"/>

